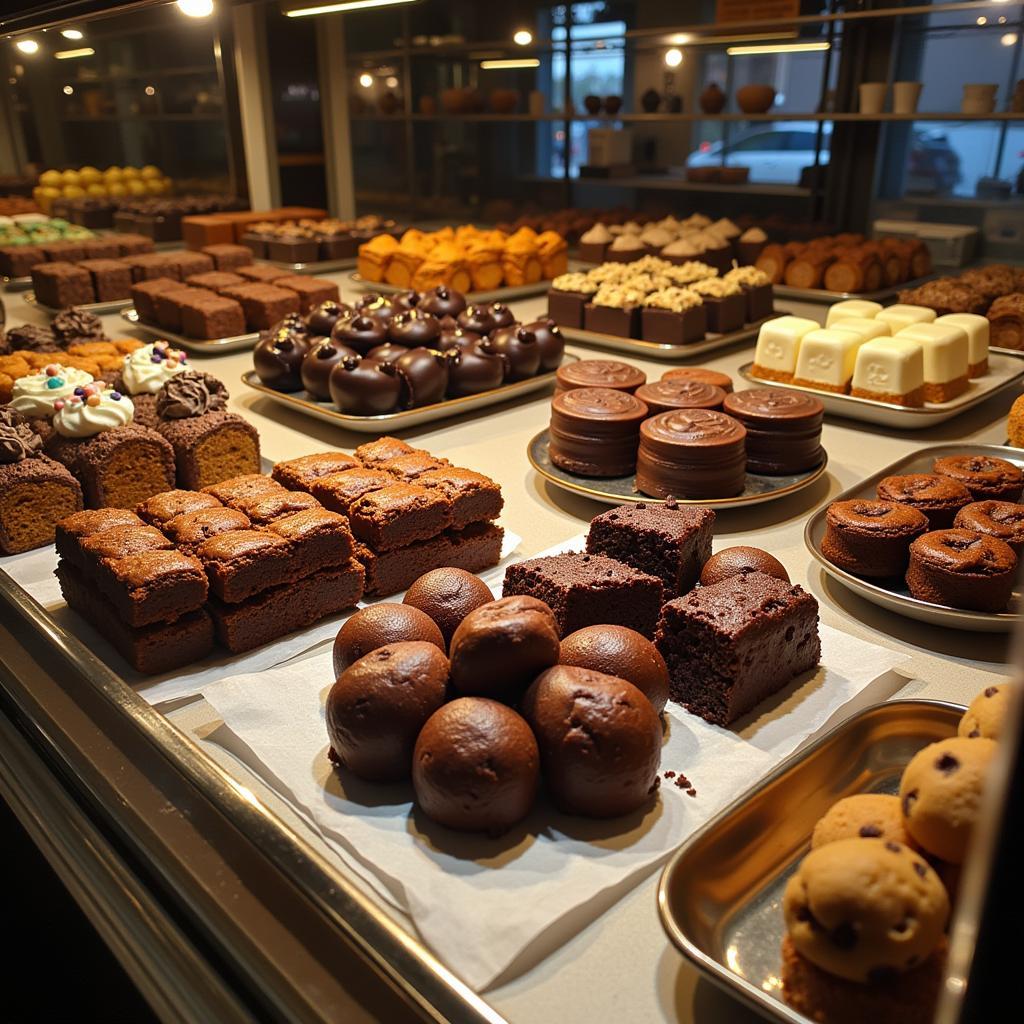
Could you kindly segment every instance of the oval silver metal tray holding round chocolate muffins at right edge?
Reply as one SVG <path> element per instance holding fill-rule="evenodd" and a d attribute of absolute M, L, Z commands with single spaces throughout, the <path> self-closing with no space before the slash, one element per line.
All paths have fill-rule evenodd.
<path fill-rule="evenodd" d="M 999 444 L 936 444 L 933 447 L 922 449 L 912 455 L 898 459 L 891 466 L 880 469 L 872 476 L 844 490 L 835 501 L 848 501 L 851 498 L 874 498 L 874 489 L 884 476 L 895 473 L 931 473 L 932 463 L 947 455 L 988 455 L 996 459 L 1006 459 L 1015 466 L 1024 469 L 1024 450 L 1004 447 Z M 968 611 L 963 608 L 950 608 L 944 604 L 932 604 L 910 596 L 902 580 L 878 581 L 864 580 L 833 565 L 821 553 L 821 539 L 825 534 L 825 512 L 820 508 L 808 520 L 804 527 L 804 543 L 807 550 L 820 563 L 821 568 L 834 580 L 859 594 L 862 598 L 889 611 L 916 618 L 932 626 L 945 629 L 971 630 L 976 633 L 1009 633 L 1021 621 L 1021 613 L 1012 611 Z M 1012 608 L 1019 607 L 1020 591 L 1014 591 Z"/>

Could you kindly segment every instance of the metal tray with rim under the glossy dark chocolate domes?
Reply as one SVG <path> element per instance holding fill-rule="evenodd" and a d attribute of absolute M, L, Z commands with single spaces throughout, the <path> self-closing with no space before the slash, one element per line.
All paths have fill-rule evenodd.
<path fill-rule="evenodd" d="M 579 358 L 579 355 L 566 352 L 562 359 L 562 366 L 565 366 L 566 362 L 575 362 Z M 446 420 L 452 416 L 461 416 L 463 413 L 472 413 L 477 409 L 486 409 L 488 406 L 497 406 L 499 402 L 519 398 L 522 395 L 536 394 L 549 384 L 555 383 L 555 371 L 538 374 L 536 377 L 528 377 L 524 381 L 516 381 L 513 384 L 503 384 L 501 387 L 480 391 L 477 394 L 464 395 L 460 398 L 445 398 L 443 401 L 437 401 L 430 406 L 404 409 L 397 413 L 384 413 L 380 416 L 352 416 L 349 413 L 342 413 L 333 402 L 319 401 L 306 391 L 276 391 L 264 384 L 256 376 L 255 370 L 247 370 L 242 375 L 242 383 L 286 409 L 304 413 L 306 416 L 312 416 L 325 423 L 333 423 L 336 427 L 356 430 L 359 433 L 383 434 L 390 430 L 401 430 L 406 427 L 418 427 L 424 423 Z"/>

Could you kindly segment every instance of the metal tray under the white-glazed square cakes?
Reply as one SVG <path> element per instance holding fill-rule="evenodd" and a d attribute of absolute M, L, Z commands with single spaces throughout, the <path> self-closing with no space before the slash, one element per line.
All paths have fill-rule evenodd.
<path fill-rule="evenodd" d="M 852 394 L 819 391 L 817 388 L 802 387 L 799 384 L 762 380 L 754 376 L 753 361 L 744 362 L 739 368 L 739 375 L 752 384 L 816 395 L 824 404 L 825 412 L 833 416 L 845 416 L 864 423 L 878 423 L 880 426 L 892 427 L 895 430 L 921 430 L 924 427 L 933 427 L 937 423 L 945 423 L 946 420 L 951 420 L 954 416 L 959 416 L 961 413 L 987 401 L 993 395 L 1013 390 L 1024 378 L 1024 352 L 1015 352 L 1013 355 L 990 354 L 988 373 L 971 381 L 964 394 L 951 401 L 928 402 L 921 409 L 907 409 L 905 406 L 876 401 L 873 398 L 855 398 Z"/>

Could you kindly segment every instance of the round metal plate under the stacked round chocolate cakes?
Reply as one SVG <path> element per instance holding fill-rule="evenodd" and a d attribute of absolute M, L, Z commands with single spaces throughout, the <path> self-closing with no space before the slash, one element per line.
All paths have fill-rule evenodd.
<path fill-rule="evenodd" d="M 556 487 L 592 498 L 605 505 L 623 505 L 629 502 L 645 502 L 648 505 L 663 503 L 664 499 L 662 498 L 648 498 L 647 495 L 640 494 L 636 488 L 635 475 L 607 479 L 595 476 L 578 476 L 575 473 L 567 473 L 564 469 L 559 469 L 551 462 L 551 457 L 548 454 L 548 431 L 542 430 L 529 442 L 526 456 L 534 469 Z M 748 473 L 746 486 L 743 488 L 743 493 L 735 498 L 679 498 L 676 500 L 680 505 L 702 505 L 724 509 L 760 505 L 762 502 L 771 502 L 776 498 L 784 498 L 786 495 L 809 487 L 824 473 L 827 465 L 828 456 L 825 455 L 820 466 L 808 470 L 806 473 L 792 476 L 760 476 L 756 473 Z"/>

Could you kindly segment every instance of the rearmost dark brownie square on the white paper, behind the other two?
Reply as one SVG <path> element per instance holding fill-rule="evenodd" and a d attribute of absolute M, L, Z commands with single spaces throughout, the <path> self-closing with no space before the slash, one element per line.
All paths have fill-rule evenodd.
<path fill-rule="evenodd" d="M 666 600 L 692 590 L 711 558 L 715 513 L 699 506 L 622 505 L 595 516 L 587 550 L 655 575 Z"/>

